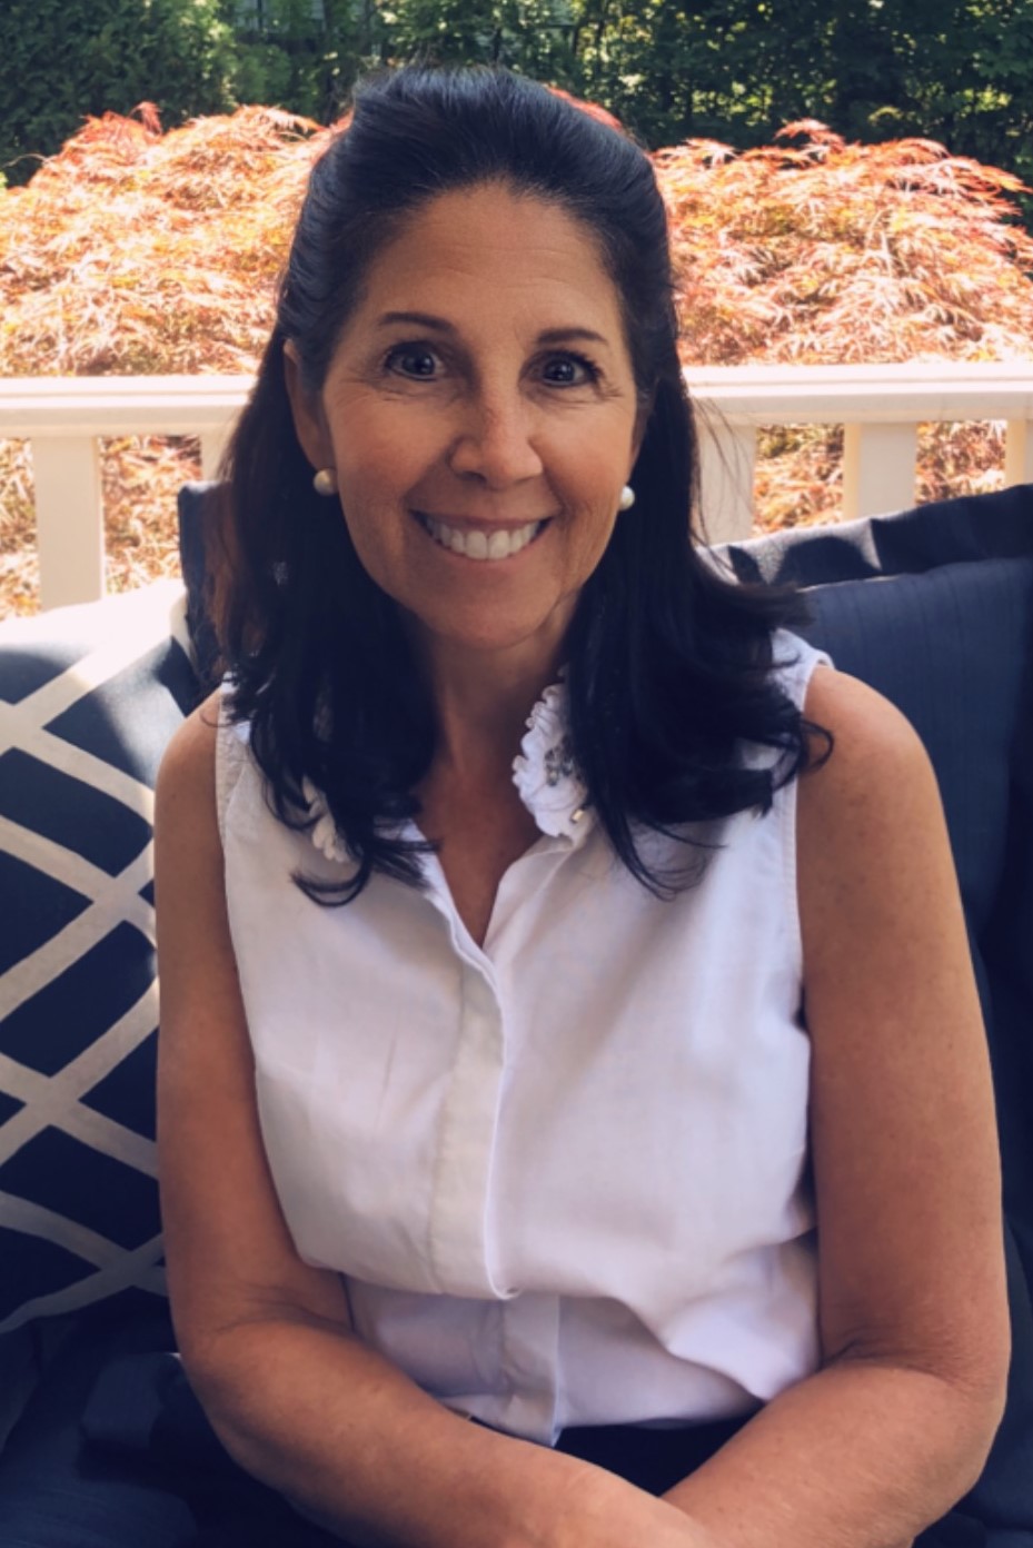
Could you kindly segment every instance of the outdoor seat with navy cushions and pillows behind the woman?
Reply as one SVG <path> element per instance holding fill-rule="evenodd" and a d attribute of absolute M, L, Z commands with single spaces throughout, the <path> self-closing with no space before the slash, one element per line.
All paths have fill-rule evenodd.
<path fill-rule="evenodd" d="M 170 1359 L 150 820 L 163 748 L 214 667 L 206 498 L 181 495 L 186 590 L 0 625 L 0 1543 L 77 1454 L 98 1387 Z M 900 706 L 940 780 L 999 1101 L 1014 1336 L 963 1508 L 988 1548 L 1033 1548 L 1033 485 L 716 562 L 804 587 L 805 632 Z M 136 1415 L 125 1444 L 161 1421 Z"/>

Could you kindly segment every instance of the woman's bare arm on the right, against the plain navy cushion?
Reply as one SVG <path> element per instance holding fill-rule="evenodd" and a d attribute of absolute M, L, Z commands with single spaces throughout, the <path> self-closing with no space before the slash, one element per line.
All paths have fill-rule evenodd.
<path fill-rule="evenodd" d="M 666 1498 L 728 1548 L 894 1548 L 974 1483 L 1008 1320 L 990 1067 L 925 751 L 819 670 L 799 789 L 824 1368 Z"/>

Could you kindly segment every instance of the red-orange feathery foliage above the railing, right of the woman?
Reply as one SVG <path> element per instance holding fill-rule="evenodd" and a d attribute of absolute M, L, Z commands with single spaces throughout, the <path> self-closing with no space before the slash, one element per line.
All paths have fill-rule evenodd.
<path fill-rule="evenodd" d="M 1033 359 L 1018 178 L 926 139 L 850 146 L 813 121 L 777 138 L 654 158 L 688 361 Z"/>

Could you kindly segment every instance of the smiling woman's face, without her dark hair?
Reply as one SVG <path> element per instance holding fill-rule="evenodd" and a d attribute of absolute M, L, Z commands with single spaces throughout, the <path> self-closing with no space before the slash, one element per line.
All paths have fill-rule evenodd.
<path fill-rule="evenodd" d="M 641 440 L 585 229 L 499 186 L 440 195 L 375 260 L 319 399 L 290 347 L 288 385 L 362 565 L 426 649 L 554 664 Z"/>

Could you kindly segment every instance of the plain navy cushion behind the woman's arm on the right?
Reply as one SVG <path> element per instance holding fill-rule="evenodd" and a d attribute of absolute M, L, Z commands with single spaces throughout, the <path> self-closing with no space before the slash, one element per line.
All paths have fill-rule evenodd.
<path fill-rule="evenodd" d="M 937 771 L 994 1067 L 1013 1336 L 965 1508 L 993 1548 L 1033 1548 L 1033 486 L 723 553 L 805 588 L 802 632 L 908 715 Z"/>

